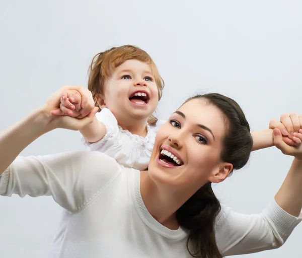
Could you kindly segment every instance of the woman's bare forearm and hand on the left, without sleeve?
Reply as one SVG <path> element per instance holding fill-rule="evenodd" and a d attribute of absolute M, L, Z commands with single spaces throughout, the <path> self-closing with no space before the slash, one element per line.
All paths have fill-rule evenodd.
<path fill-rule="evenodd" d="M 32 111 L 20 122 L 0 133 L 0 175 L 16 159 L 22 150 L 43 134 L 55 128 L 80 130 L 93 121 L 97 108 L 94 107 L 92 97 L 88 100 L 87 98 L 83 98 L 83 101 L 85 101 L 83 102 L 83 112 L 89 113 L 89 115 L 83 119 L 51 114 L 53 110 L 59 107 L 60 96 L 70 88 L 77 88 L 79 91 L 83 90 L 82 95 L 84 95 L 84 97 L 87 96 L 85 89 L 82 87 L 63 87 L 52 94 L 42 107 Z"/>

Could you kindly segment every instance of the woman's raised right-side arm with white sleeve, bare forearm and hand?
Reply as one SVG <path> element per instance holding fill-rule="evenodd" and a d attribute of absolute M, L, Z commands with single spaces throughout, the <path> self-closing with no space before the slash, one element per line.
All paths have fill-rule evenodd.
<path fill-rule="evenodd" d="M 299 129 L 302 133 L 302 129 Z M 300 134 L 293 134 L 302 140 Z M 302 146 L 289 146 L 279 129 L 273 130 L 274 145 L 294 156 L 274 201 L 261 213 L 244 215 L 227 210 L 217 223 L 217 242 L 224 255 L 237 255 L 281 246 L 302 220 Z"/>

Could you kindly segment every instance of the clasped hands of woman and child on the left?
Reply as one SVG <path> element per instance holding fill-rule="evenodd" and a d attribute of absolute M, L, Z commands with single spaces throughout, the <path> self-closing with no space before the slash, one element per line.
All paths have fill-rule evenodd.
<path fill-rule="evenodd" d="M 78 94 L 80 94 L 81 98 L 77 97 Z M 70 100 L 77 102 L 75 105 L 70 103 L 74 106 L 72 109 L 75 110 L 74 114 L 77 114 L 77 118 L 65 115 L 64 111 L 62 111 L 61 102 L 66 101 L 67 98 L 68 100 L 70 98 Z M 54 128 L 81 130 L 81 128 L 93 121 L 94 116 L 98 111 L 98 107 L 95 106 L 91 92 L 80 86 L 66 86 L 56 91 L 48 98 L 42 109 L 50 115 L 51 119 L 48 124 L 49 130 Z"/>

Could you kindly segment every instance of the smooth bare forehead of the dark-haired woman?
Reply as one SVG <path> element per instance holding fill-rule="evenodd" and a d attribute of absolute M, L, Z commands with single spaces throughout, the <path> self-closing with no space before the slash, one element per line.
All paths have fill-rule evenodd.
<path fill-rule="evenodd" d="M 210 128 L 215 138 L 225 135 L 225 117 L 219 108 L 208 103 L 205 99 L 192 99 L 179 109 L 186 116 L 186 123 L 195 126 L 202 124 Z"/>

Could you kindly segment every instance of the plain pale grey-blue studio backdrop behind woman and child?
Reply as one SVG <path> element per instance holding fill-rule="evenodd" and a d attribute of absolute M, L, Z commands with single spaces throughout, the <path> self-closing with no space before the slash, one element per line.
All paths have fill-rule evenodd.
<path fill-rule="evenodd" d="M 123 44 L 157 63 L 166 82 L 160 118 L 190 95 L 219 92 L 239 102 L 252 130 L 265 129 L 282 113 L 302 113 L 301 13 L 299 1 L 1 0 L 0 130 L 61 86 L 86 87 L 93 55 Z M 56 130 L 22 155 L 82 149 L 78 132 Z M 274 147 L 257 151 L 215 191 L 235 211 L 259 213 L 291 160 Z M 51 197 L 0 197 L 0 205 L 0 256 L 46 257 L 61 208 Z M 298 225 L 281 248 L 247 257 L 299 257 L 301 235 Z"/>

